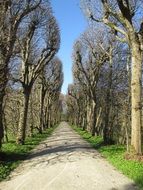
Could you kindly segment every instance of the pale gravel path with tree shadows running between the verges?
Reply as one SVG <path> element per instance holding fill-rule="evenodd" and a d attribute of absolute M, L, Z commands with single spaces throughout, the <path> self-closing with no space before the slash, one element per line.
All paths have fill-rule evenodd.
<path fill-rule="evenodd" d="M 136 189 L 65 122 L 0 183 L 0 190 Z"/>

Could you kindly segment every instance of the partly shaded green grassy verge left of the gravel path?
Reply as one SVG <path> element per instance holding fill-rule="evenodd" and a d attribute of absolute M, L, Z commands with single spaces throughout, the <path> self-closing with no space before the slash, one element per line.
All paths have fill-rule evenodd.
<path fill-rule="evenodd" d="M 27 138 L 25 145 L 17 145 L 14 140 L 4 143 L 0 155 L 0 181 L 6 179 L 10 172 L 29 155 L 30 151 L 49 137 L 56 127 L 47 129 L 43 134 L 35 134 L 31 138 Z"/>

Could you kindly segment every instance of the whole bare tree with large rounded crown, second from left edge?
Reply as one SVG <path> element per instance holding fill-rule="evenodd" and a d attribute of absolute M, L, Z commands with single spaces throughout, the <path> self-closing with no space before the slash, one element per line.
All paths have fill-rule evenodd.
<path fill-rule="evenodd" d="M 37 13 L 37 11 L 39 12 Z M 21 83 L 23 92 L 17 137 L 17 143 L 19 144 L 24 144 L 25 140 L 29 97 L 33 84 L 45 65 L 58 51 L 60 43 L 59 28 L 50 7 L 44 7 L 37 11 L 31 16 L 29 25 L 22 37 L 20 35 L 18 39 L 21 72 L 19 78 L 15 81 Z M 43 43 L 40 47 L 38 43 L 41 42 L 38 38 Z"/>

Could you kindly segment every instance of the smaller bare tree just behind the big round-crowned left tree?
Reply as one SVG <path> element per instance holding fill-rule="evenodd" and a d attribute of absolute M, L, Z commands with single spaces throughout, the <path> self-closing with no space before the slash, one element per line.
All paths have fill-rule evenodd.
<path fill-rule="evenodd" d="M 54 106 L 63 83 L 62 63 L 59 58 L 55 57 L 44 68 L 40 76 L 41 100 L 40 100 L 40 132 L 45 127 L 51 127 L 52 106 Z M 56 102 L 58 104 L 58 102 Z M 54 109 L 54 108 L 53 108 Z M 58 110 L 58 109 L 57 109 Z M 56 114 L 55 117 L 58 117 Z M 56 119 L 56 118 L 53 119 Z"/>

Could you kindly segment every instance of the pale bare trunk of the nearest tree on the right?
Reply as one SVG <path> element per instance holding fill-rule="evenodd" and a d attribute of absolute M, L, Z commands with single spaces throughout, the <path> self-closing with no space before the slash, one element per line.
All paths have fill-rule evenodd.
<path fill-rule="evenodd" d="M 138 43 L 132 44 L 132 77 L 131 77 L 131 145 L 136 154 L 141 154 L 141 85 L 142 85 L 142 52 Z"/>

